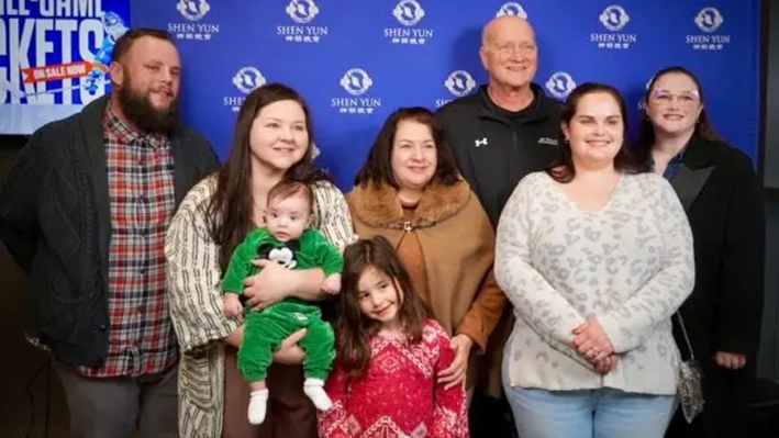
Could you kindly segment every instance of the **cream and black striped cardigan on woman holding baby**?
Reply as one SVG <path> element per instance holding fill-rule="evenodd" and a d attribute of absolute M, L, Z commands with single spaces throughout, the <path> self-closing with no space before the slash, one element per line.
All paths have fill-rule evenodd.
<path fill-rule="evenodd" d="M 216 179 L 212 176 L 189 191 L 165 240 L 170 317 L 181 349 L 178 380 L 181 438 L 222 435 L 224 345 L 221 340 L 240 326 L 222 313 L 219 246 L 212 240 L 203 215 L 215 189 Z M 312 189 L 314 227 L 343 250 L 356 239 L 344 195 L 326 182 Z"/>

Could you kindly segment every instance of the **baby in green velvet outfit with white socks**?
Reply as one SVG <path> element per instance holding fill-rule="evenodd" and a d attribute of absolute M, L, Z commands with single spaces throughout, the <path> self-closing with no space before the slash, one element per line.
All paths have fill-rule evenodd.
<path fill-rule="evenodd" d="M 288 297 L 259 312 L 244 308 L 240 295 L 244 280 L 258 272 L 254 259 L 269 259 L 289 269 L 321 268 L 326 278 L 322 288 L 336 294 L 341 290 L 344 260 L 341 252 L 324 236 L 309 229 L 313 220 L 313 193 L 302 182 L 281 181 L 268 192 L 264 227 L 251 232 L 233 251 L 222 280 L 224 312 L 227 316 L 246 319 L 238 349 L 238 370 L 249 383 L 252 395 L 248 420 L 263 423 L 267 412 L 268 389 L 265 384 L 272 353 L 292 333 L 305 328 L 299 346 L 305 351 L 303 392 L 320 411 L 332 402 L 324 392 L 324 381 L 335 358 L 334 335 L 330 324 L 314 303 Z"/>

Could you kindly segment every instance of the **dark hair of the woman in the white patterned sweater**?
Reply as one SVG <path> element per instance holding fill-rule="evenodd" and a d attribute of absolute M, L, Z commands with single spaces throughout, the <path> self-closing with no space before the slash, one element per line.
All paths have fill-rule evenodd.
<path fill-rule="evenodd" d="M 620 151 L 617 151 L 614 157 L 614 169 L 630 173 L 636 172 L 637 168 L 630 157 L 630 148 L 627 147 L 627 106 L 625 105 L 625 100 L 622 99 L 622 94 L 616 88 L 597 82 L 585 82 L 578 86 L 570 92 L 570 94 L 568 94 L 568 99 L 563 106 L 561 121 L 566 125 L 570 126 L 570 121 L 574 120 L 574 116 L 579 110 L 579 102 L 581 99 L 593 93 L 606 93 L 611 96 L 620 106 L 620 114 L 622 115 L 622 124 L 624 126 L 622 132 L 623 143 L 620 147 Z M 557 182 L 570 182 L 576 176 L 576 167 L 574 166 L 570 144 L 565 138 L 565 134 L 561 128 L 557 144 L 559 145 L 557 147 L 557 157 L 555 157 L 552 164 L 546 168 L 546 172 Z"/>

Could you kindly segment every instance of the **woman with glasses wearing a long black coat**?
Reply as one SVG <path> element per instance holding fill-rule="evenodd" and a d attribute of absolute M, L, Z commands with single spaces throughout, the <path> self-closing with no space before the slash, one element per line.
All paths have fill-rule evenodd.
<path fill-rule="evenodd" d="M 689 70 L 658 71 L 644 100 L 634 153 L 676 189 L 692 227 L 695 288 L 680 314 L 703 369 L 703 413 L 677 411 L 666 437 L 746 436 L 746 388 L 755 378 L 763 317 L 766 225 L 761 184 L 749 158 L 720 138 Z M 682 360 L 687 341 L 674 317 Z"/>

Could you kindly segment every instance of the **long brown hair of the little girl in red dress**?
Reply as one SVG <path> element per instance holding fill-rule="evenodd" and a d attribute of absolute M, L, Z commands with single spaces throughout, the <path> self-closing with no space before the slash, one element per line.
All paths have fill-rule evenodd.
<path fill-rule="evenodd" d="M 377 323 L 359 310 L 357 294 L 359 279 L 368 268 L 383 272 L 402 294 L 398 318 L 411 344 L 422 340 L 430 307 L 414 293 L 405 268 L 392 245 L 382 236 L 360 239 L 344 250 L 338 318 L 335 324 L 337 351 L 344 370 L 350 375 L 360 375 L 370 362 L 370 338 L 379 330 Z M 400 303 L 400 300 L 399 300 Z"/>

